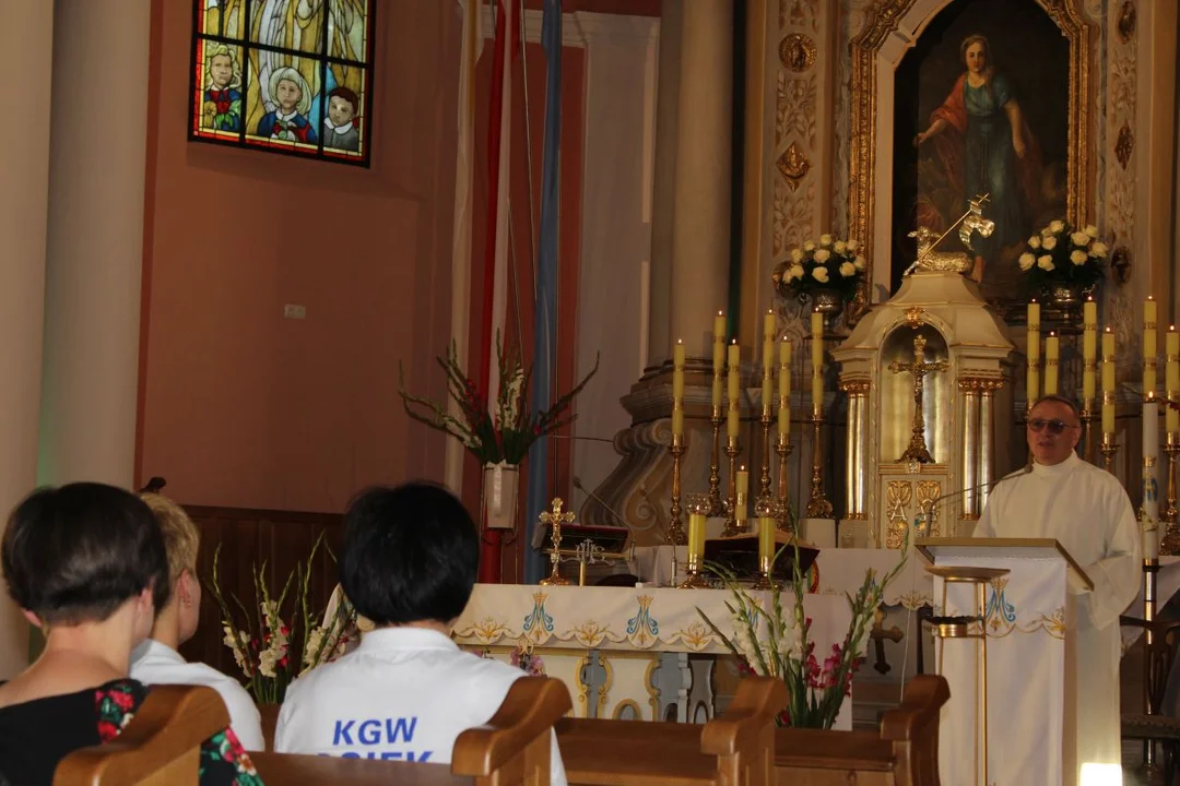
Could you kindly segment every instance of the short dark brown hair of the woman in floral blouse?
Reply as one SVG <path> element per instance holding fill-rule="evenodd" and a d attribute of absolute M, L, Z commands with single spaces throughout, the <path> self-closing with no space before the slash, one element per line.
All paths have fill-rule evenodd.
<path fill-rule="evenodd" d="M 42 488 L 8 516 L 0 546 L 8 594 L 46 625 L 101 622 L 146 588 L 168 603 L 168 554 L 151 510 L 103 483 Z"/>

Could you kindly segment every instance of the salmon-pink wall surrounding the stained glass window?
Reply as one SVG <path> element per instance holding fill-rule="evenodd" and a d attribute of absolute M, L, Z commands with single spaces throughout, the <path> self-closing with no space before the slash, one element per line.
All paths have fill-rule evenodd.
<path fill-rule="evenodd" d="M 445 394 L 461 19 L 379 12 L 366 171 L 189 143 L 191 2 L 152 0 L 137 476 L 181 502 L 335 511 L 368 483 L 441 478 L 398 363 Z"/>

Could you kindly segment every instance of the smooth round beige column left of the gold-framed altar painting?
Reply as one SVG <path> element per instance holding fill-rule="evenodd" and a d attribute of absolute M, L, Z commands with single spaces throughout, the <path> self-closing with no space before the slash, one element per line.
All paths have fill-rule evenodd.
<path fill-rule="evenodd" d="M 710 357 L 729 282 L 733 4 L 684 2 L 671 237 L 671 335 Z"/>

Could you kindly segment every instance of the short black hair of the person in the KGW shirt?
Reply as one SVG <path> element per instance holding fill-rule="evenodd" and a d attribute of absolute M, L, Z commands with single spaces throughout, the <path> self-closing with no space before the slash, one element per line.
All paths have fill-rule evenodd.
<path fill-rule="evenodd" d="M 440 486 L 368 489 L 345 514 L 340 584 L 374 625 L 450 622 L 467 605 L 478 567 L 476 522 Z"/>

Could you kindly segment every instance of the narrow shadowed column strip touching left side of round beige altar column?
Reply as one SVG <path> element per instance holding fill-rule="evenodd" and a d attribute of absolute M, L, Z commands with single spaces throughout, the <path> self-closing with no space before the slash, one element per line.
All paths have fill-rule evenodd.
<path fill-rule="evenodd" d="M 651 275 L 648 284 L 648 365 L 671 357 L 671 238 L 676 191 L 676 134 L 680 113 L 680 37 L 684 0 L 660 6 L 656 81 L 656 145 L 651 185 Z"/>

